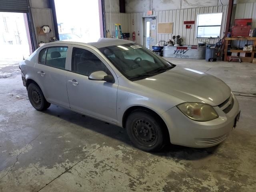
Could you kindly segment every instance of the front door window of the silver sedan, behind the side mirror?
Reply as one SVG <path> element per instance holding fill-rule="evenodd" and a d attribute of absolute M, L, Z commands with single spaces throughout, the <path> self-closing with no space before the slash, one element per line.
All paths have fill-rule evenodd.
<path fill-rule="evenodd" d="M 104 71 L 110 74 L 108 68 L 106 68 L 104 63 L 102 63 L 97 56 L 81 48 L 73 48 L 72 71 L 86 76 L 89 76 L 95 71 Z"/>

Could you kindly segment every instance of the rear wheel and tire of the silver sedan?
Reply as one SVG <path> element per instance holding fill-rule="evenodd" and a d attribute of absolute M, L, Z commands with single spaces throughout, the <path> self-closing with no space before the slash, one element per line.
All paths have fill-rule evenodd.
<path fill-rule="evenodd" d="M 41 89 L 34 83 L 28 85 L 28 99 L 31 105 L 38 111 L 46 110 L 51 105 L 46 101 Z"/>

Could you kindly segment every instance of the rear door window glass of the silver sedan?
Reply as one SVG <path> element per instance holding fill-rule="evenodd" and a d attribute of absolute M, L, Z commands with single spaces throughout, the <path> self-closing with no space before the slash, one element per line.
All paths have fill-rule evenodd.
<path fill-rule="evenodd" d="M 67 47 L 48 47 L 45 65 L 65 69 Z"/>

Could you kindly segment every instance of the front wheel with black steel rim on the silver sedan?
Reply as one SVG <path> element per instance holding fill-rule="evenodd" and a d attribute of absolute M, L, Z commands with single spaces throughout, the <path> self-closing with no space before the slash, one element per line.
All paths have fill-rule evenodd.
<path fill-rule="evenodd" d="M 166 144 L 166 126 L 146 111 L 134 111 L 126 120 L 127 134 L 136 148 L 157 152 Z"/>

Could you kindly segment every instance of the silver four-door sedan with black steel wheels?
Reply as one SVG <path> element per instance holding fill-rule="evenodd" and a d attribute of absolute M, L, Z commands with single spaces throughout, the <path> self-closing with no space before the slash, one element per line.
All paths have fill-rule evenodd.
<path fill-rule="evenodd" d="M 180 68 L 128 40 L 52 42 L 20 62 L 32 106 L 56 104 L 126 128 L 133 144 L 204 148 L 224 141 L 239 118 L 230 88 Z"/>

